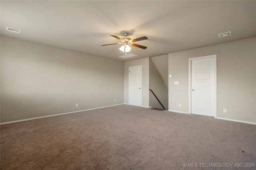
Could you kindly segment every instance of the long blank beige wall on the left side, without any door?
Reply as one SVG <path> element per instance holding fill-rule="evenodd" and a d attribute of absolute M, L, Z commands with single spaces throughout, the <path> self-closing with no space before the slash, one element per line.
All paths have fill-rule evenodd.
<path fill-rule="evenodd" d="M 123 103 L 124 62 L 1 36 L 1 122 Z"/>

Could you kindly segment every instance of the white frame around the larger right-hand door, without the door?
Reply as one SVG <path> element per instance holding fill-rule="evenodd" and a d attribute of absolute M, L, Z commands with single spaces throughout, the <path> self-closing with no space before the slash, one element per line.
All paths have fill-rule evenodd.
<path fill-rule="evenodd" d="M 192 95 L 191 95 L 191 74 L 192 74 L 192 61 L 193 60 L 200 60 L 200 59 L 209 59 L 209 58 L 214 58 L 214 118 L 217 117 L 217 55 L 207 55 L 207 56 L 202 56 L 202 57 L 194 57 L 188 59 L 188 113 L 191 113 L 192 106 Z"/>

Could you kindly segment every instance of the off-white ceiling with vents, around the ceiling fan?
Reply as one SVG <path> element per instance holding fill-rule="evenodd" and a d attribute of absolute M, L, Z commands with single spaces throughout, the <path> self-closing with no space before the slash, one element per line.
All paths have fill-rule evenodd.
<path fill-rule="evenodd" d="M 129 61 L 256 37 L 256 1 L 3 1 L 1 35 L 89 55 Z M 6 31 L 6 27 L 21 33 Z M 219 38 L 219 33 L 232 31 Z M 122 59 L 120 41 L 131 39 L 148 47 L 132 47 Z"/>

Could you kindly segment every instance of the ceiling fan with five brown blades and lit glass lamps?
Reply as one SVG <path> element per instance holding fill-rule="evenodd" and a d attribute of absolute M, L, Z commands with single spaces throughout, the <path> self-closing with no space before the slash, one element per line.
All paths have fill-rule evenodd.
<path fill-rule="evenodd" d="M 123 51 L 123 52 L 129 52 L 130 51 L 131 47 L 129 45 L 132 45 L 134 47 L 138 47 L 138 48 L 141 48 L 141 49 L 146 49 L 147 48 L 145 46 L 135 44 L 134 42 L 148 39 L 148 37 L 144 36 L 144 37 L 140 37 L 140 38 L 136 38 L 136 39 L 130 39 L 130 38 L 127 37 L 128 35 L 129 35 L 129 33 L 124 33 L 124 36 L 125 36 L 124 38 L 119 38 L 116 35 L 110 35 L 110 36 L 115 37 L 116 39 L 120 40 L 120 43 L 114 43 L 114 44 L 123 44 L 123 46 L 120 48 L 120 50 Z M 106 44 L 106 45 L 113 45 L 113 44 Z M 101 45 L 101 46 L 105 46 L 105 45 Z"/>

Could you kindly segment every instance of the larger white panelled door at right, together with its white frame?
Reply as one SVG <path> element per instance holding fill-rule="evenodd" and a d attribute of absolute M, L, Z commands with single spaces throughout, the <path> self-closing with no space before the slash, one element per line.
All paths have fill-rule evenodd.
<path fill-rule="evenodd" d="M 216 55 L 191 60 L 191 113 L 216 117 Z"/>

